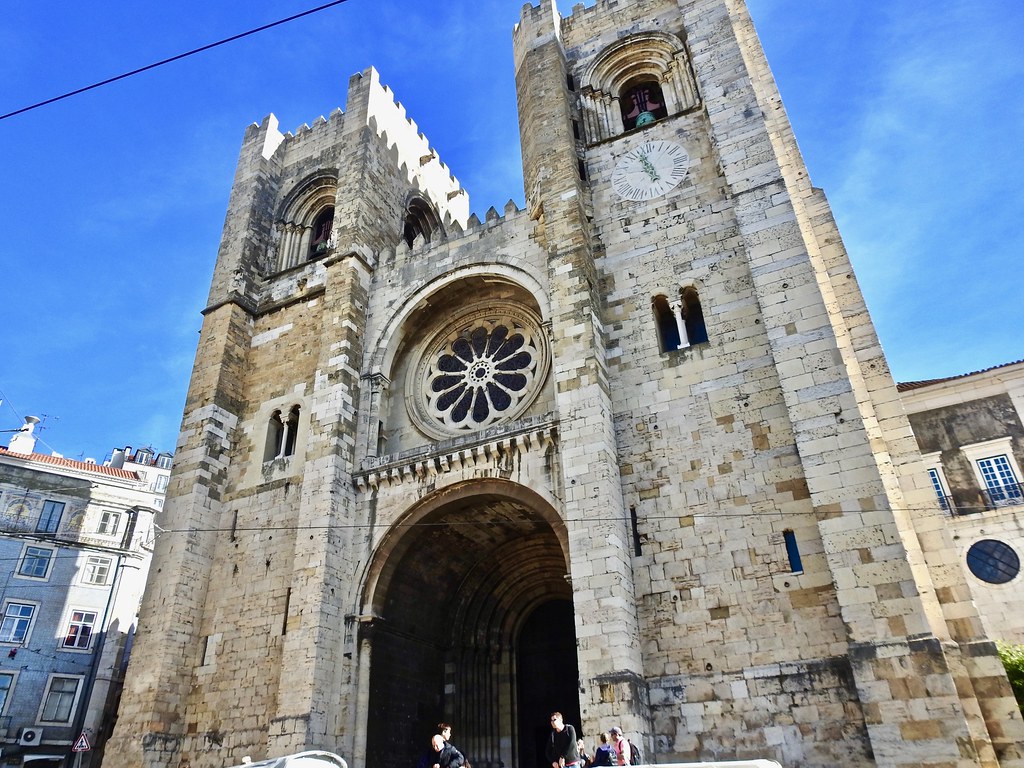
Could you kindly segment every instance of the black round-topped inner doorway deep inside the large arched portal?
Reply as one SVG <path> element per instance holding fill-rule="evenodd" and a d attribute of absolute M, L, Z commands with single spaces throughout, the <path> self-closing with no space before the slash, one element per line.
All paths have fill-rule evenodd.
<path fill-rule="evenodd" d="M 552 712 L 562 713 L 583 737 L 571 602 L 552 601 L 529 615 L 519 634 L 518 659 L 519 768 L 550 768 L 544 752 Z"/>

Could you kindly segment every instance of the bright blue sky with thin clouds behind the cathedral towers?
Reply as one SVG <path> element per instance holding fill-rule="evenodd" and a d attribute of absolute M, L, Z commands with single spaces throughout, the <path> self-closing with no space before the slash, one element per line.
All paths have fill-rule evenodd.
<path fill-rule="evenodd" d="M 0 114 L 316 4 L 9 5 Z M 749 5 L 896 378 L 1024 358 L 1024 5 Z M 0 121 L 0 429 L 45 417 L 37 450 L 71 458 L 172 450 L 243 131 L 343 108 L 368 66 L 472 210 L 521 204 L 520 7 L 349 0 Z"/>

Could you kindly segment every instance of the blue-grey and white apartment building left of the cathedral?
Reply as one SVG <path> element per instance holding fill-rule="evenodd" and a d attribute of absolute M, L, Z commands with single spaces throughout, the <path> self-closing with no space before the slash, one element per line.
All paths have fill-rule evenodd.
<path fill-rule="evenodd" d="M 0 765 L 98 765 L 113 727 L 171 456 L 104 464 L 0 447 Z"/>

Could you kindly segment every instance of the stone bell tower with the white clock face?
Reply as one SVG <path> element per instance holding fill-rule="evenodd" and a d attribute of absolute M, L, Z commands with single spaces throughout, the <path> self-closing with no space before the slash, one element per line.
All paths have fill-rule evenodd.
<path fill-rule="evenodd" d="M 556 387 L 587 414 L 562 447 L 574 431 L 600 508 L 618 475 L 608 508 L 637 554 L 640 673 L 582 635 L 584 719 L 668 760 L 1019 764 L 1020 718 L 744 4 L 542 2 L 515 54 L 527 209 L 565 292 Z"/>

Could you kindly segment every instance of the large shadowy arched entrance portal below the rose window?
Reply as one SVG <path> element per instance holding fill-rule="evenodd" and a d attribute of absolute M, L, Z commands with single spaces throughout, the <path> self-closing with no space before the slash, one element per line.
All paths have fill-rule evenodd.
<path fill-rule="evenodd" d="M 543 768 L 549 715 L 579 727 L 564 529 L 513 483 L 442 492 L 382 545 L 359 654 L 368 768 L 409 768 L 440 722 L 474 768 Z"/>

